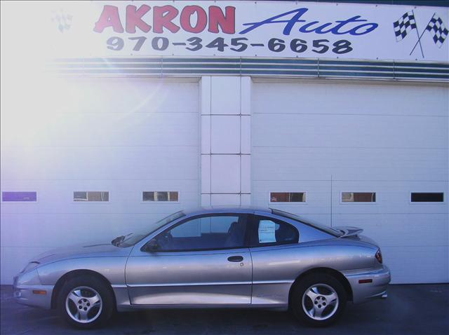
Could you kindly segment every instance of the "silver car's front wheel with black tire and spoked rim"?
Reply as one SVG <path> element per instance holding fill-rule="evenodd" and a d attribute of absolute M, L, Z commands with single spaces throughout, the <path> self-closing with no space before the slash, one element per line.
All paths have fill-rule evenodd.
<path fill-rule="evenodd" d="M 100 327 L 114 312 L 114 296 L 102 280 L 81 275 L 62 285 L 57 308 L 60 316 L 76 328 Z"/>

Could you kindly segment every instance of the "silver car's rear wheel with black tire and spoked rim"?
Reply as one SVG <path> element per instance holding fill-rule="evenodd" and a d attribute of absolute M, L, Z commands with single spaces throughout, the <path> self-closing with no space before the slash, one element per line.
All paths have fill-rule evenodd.
<path fill-rule="evenodd" d="M 297 282 L 290 301 L 297 320 L 313 327 L 326 327 L 342 316 L 347 293 L 332 275 L 316 273 Z"/>

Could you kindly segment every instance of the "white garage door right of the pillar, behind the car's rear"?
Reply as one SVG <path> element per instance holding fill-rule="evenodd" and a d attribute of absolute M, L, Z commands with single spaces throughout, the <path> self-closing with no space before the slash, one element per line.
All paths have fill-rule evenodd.
<path fill-rule="evenodd" d="M 252 102 L 253 205 L 363 228 L 392 282 L 449 280 L 447 87 L 257 82 Z"/>

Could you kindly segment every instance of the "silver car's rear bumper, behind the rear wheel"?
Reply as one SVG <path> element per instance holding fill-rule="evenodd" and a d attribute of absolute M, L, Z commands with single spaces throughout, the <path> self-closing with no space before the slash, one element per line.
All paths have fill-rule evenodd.
<path fill-rule="evenodd" d="M 387 266 L 382 266 L 382 268 L 373 271 L 346 271 L 343 274 L 351 285 L 354 303 L 387 298 L 387 287 L 391 280 Z M 372 281 L 359 282 L 359 280 Z"/>

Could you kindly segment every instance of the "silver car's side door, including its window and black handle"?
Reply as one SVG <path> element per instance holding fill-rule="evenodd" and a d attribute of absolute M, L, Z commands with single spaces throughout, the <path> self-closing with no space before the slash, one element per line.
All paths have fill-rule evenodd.
<path fill-rule="evenodd" d="M 247 226 L 247 214 L 189 217 L 147 242 L 148 250 L 135 248 L 126 265 L 130 302 L 249 304 Z"/>

